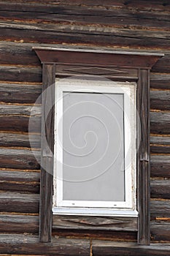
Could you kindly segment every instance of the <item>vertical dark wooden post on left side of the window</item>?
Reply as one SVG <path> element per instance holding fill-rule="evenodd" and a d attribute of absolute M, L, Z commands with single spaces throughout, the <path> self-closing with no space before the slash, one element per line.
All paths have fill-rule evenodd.
<path fill-rule="evenodd" d="M 42 67 L 42 140 L 39 241 L 50 242 L 53 203 L 55 64 Z"/>

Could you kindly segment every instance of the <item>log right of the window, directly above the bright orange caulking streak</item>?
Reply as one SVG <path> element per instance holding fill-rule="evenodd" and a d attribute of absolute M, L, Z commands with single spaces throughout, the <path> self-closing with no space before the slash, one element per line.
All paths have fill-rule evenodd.
<path fill-rule="evenodd" d="M 151 200 L 150 214 L 151 219 L 169 218 L 170 200 Z"/>

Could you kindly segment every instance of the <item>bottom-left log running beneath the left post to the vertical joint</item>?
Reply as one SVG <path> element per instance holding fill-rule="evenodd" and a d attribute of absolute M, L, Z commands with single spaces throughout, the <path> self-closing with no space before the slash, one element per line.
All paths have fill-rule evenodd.
<path fill-rule="evenodd" d="M 87 256 L 90 241 L 72 238 L 53 238 L 51 243 L 39 243 L 38 236 L 1 234 L 0 252 L 20 255 Z"/>

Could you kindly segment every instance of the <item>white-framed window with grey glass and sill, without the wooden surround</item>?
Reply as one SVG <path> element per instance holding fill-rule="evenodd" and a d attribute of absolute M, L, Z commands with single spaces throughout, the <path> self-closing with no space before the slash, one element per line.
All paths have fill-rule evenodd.
<path fill-rule="evenodd" d="M 136 83 L 55 83 L 54 214 L 137 217 Z"/>

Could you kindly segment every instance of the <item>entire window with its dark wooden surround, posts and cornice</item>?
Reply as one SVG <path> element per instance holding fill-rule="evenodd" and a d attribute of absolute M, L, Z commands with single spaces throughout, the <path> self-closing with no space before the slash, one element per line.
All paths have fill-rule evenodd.
<path fill-rule="evenodd" d="M 80 229 L 84 229 L 82 222 L 86 219 L 86 222 L 90 225 L 90 230 L 100 230 L 100 224 L 97 225 L 96 223 L 96 215 L 100 212 L 102 218 L 97 217 L 98 221 L 100 222 L 102 219 L 102 223 L 103 221 L 107 223 L 104 230 L 137 232 L 138 244 L 150 244 L 149 80 L 150 69 L 163 55 L 75 48 L 34 48 L 34 50 L 42 61 L 43 91 L 39 241 L 51 241 L 54 225 L 64 229 L 68 228 L 68 230 L 70 227 L 74 229 L 74 220 L 72 222 L 74 217 L 72 216 L 72 219 L 69 217 L 72 214 L 91 215 L 83 216 L 83 219 L 76 217 L 77 226 Z M 97 75 L 99 79 L 83 81 L 76 79 L 74 83 L 66 79 L 64 84 L 64 79 L 61 78 L 69 78 L 72 75 Z M 56 78 L 57 82 L 55 83 Z M 104 79 L 105 81 L 101 81 Z M 108 79 L 112 80 L 112 83 L 109 83 Z M 55 90 L 56 87 L 57 90 Z M 55 92 L 57 97 L 59 97 L 58 95 L 61 96 L 56 104 Z M 100 105 L 98 108 L 93 108 L 91 104 L 85 103 L 84 107 L 76 108 L 80 114 L 83 113 L 86 117 L 81 121 L 81 129 L 78 129 L 79 125 L 77 125 L 78 128 L 71 125 L 72 140 L 79 147 L 78 149 L 81 148 L 84 154 L 83 150 L 86 149 L 91 149 L 93 153 L 96 153 L 96 147 L 94 146 L 98 146 L 98 154 L 94 154 L 92 158 L 88 157 L 87 152 L 87 157 L 75 157 L 75 153 L 77 155 L 77 152 L 74 151 L 75 147 L 69 148 L 66 128 L 68 125 L 70 126 L 70 121 L 72 124 L 72 118 L 77 120 L 76 123 L 78 124 L 79 113 L 69 114 L 67 110 L 72 108 L 72 105 L 80 105 L 82 98 L 85 102 L 91 102 L 92 100 L 92 102 L 95 102 L 94 105 L 97 106 L 102 100 L 104 102 L 102 105 L 107 105 L 110 114 L 118 113 L 117 118 L 113 118 L 117 121 L 117 125 L 113 125 L 114 128 L 111 129 L 112 121 L 110 121 L 107 111 L 101 110 Z M 114 104 L 109 105 L 110 101 Z M 118 102 L 119 104 L 117 104 Z M 136 118 L 135 109 L 139 118 Z M 49 110 L 51 111 L 49 112 Z M 106 118 L 106 122 L 108 121 L 110 133 L 108 149 L 112 148 L 112 154 L 109 152 L 105 162 L 113 159 L 111 155 L 116 154 L 116 147 L 120 149 L 119 157 L 117 157 L 117 161 L 120 160 L 120 165 L 112 165 L 110 171 L 102 173 L 100 182 L 98 182 L 98 168 L 101 167 L 101 170 L 105 170 L 104 162 L 101 161 L 101 165 L 98 164 L 96 168 L 83 168 L 86 164 L 85 161 L 89 165 L 90 161 L 97 159 L 99 154 L 103 153 L 103 148 L 107 148 L 107 140 L 103 139 L 104 132 L 101 129 L 104 128 L 104 125 L 97 125 L 95 118 L 88 121 L 93 112 Z M 90 125 L 93 128 L 92 130 Z M 120 130 L 116 127 L 119 127 Z M 87 145 L 85 144 L 86 141 L 81 139 L 83 137 L 80 133 L 85 133 L 86 129 L 89 131 L 85 136 Z M 96 140 L 94 133 L 95 129 L 98 131 L 98 140 Z M 117 136 L 114 137 L 115 134 Z M 113 141 L 113 138 L 115 138 L 115 141 Z M 102 142 L 105 144 L 102 144 Z M 129 146 L 129 143 L 131 146 Z M 137 152 L 135 152 L 135 146 L 138 149 Z M 68 147 L 71 154 L 66 154 L 66 151 L 63 150 L 64 147 Z M 70 167 L 63 165 L 67 162 L 69 162 L 69 166 L 74 167 L 76 164 L 78 168 L 72 167 L 74 171 L 70 171 Z M 74 165 L 72 165 L 72 162 Z M 80 167 L 81 171 L 79 172 L 77 170 L 80 170 Z M 115 170 L 122 170 L 121 174 L 120 172 L 117 173 L 117 184 L 114 183 L 114 168 Z M 81 178 L 87 176 L 89 170 L 92 176 L 95 176 L 97 172 L 97 177 L 91 179 L 85 177 L 87 181 L 82 182 Z M 55 174 L 54 179 L 53 172 Z M 73 175 L 80 176 L 80 180 L 75 182 Z M 81 182 L 83 186 L 82 184 L 80 186 Z M 104 187 L 101 187 L 103 184 Z M 118 189 L 116 189 L 117 185 Z M 98 191 L 101 191 L 100 193 L 95 193 L 96 189 L 93 189 L 97 186 L 99 187 Z M 116 194 L 114 189 L 117 192 Z M 72 193 L 68 193 L 71 190 Z M 86 191 L 88 193 L 85 193 Z M 139 214 L 137 215 L 137 213 Z M 66 217 L 64 214 L 69 215 Z M 112 219 L 112 223 L 108 222 L 110 219 Z M 93 225 L 94 222 L 95 225 Z"/>

